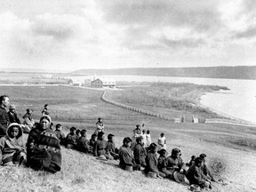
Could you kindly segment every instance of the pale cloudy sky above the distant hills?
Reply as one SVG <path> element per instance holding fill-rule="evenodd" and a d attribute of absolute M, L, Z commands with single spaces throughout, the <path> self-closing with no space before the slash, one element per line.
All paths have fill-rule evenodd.
<path fill-rule="evenodd" d="M 255 0 L 0 0 L 0 68 L 256 65 Z"/>

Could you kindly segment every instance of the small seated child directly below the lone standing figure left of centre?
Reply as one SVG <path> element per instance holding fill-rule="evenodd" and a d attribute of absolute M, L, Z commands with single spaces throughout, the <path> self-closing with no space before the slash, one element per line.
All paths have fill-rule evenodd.
<path fill-rule="evenodd" d="M 96 140 L 93 147 L 93 156 L 97 156 L 98 159 L 106 160 L 110 156 L 107 153 L 107 140 L 105 139 L 104 132 L 98 133 L 98 140 Z"/>

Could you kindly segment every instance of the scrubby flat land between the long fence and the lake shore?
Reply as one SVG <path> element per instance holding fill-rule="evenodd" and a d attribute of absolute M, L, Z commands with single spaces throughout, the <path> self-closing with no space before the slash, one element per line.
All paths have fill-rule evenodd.
<path fill-rule="evenodd" d="M 199 99 L 205 92 L 228 90 L 227 87 L 198 84 L 151 83 L 148 86 L 122 87 L 120 92 L 108 91 L 108 97 L 121 103 L 142 108 L 166 116 L 181 115 L 216 117 L 200 107 Z M 190 117 L 192 118 L 192 117 Z M 189 120 L 190 120 L 189 118 Z"/>

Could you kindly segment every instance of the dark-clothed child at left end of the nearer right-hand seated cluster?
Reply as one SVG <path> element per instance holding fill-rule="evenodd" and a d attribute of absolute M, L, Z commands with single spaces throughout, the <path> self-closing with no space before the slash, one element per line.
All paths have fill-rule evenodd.
<path fill-rule="evenodd" d="M 123 146 L 119 148 L 119 166 L 127 172 L 132 172 L 134 167 L 134 157 L 131 149 L 132 139 L 125 137 L 123 140 Z"/>

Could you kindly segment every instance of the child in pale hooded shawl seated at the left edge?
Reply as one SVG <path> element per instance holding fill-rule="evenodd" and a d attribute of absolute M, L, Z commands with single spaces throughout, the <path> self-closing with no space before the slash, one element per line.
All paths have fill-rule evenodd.
<path fill-rule="evenodd" d="M 20 124 L 9 124 L 6 135 L 0 139 L 0 162 L 3 165 L 23 165 L 26 160 L 26 146 Z"/>

